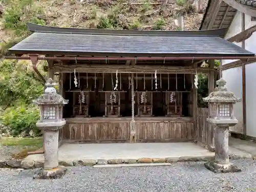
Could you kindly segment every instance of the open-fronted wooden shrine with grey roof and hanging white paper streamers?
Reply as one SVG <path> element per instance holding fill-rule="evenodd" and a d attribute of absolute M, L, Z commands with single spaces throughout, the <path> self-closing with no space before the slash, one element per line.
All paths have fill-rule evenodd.
<path fill-rule="evenodd" d="M 222 39 L 224 29 L 28 28 L 33 33 L 9 49 L 9 58 L 30 59 L 42 81 L 36 64 L 48 62 L 48 76 L 70 100 L 60 113 L 63 142 L 194 141 L 198 74 L 209 74 L 211 88 L 215 82 L 214 66 L 202 63 L 254 56 Z"/>

